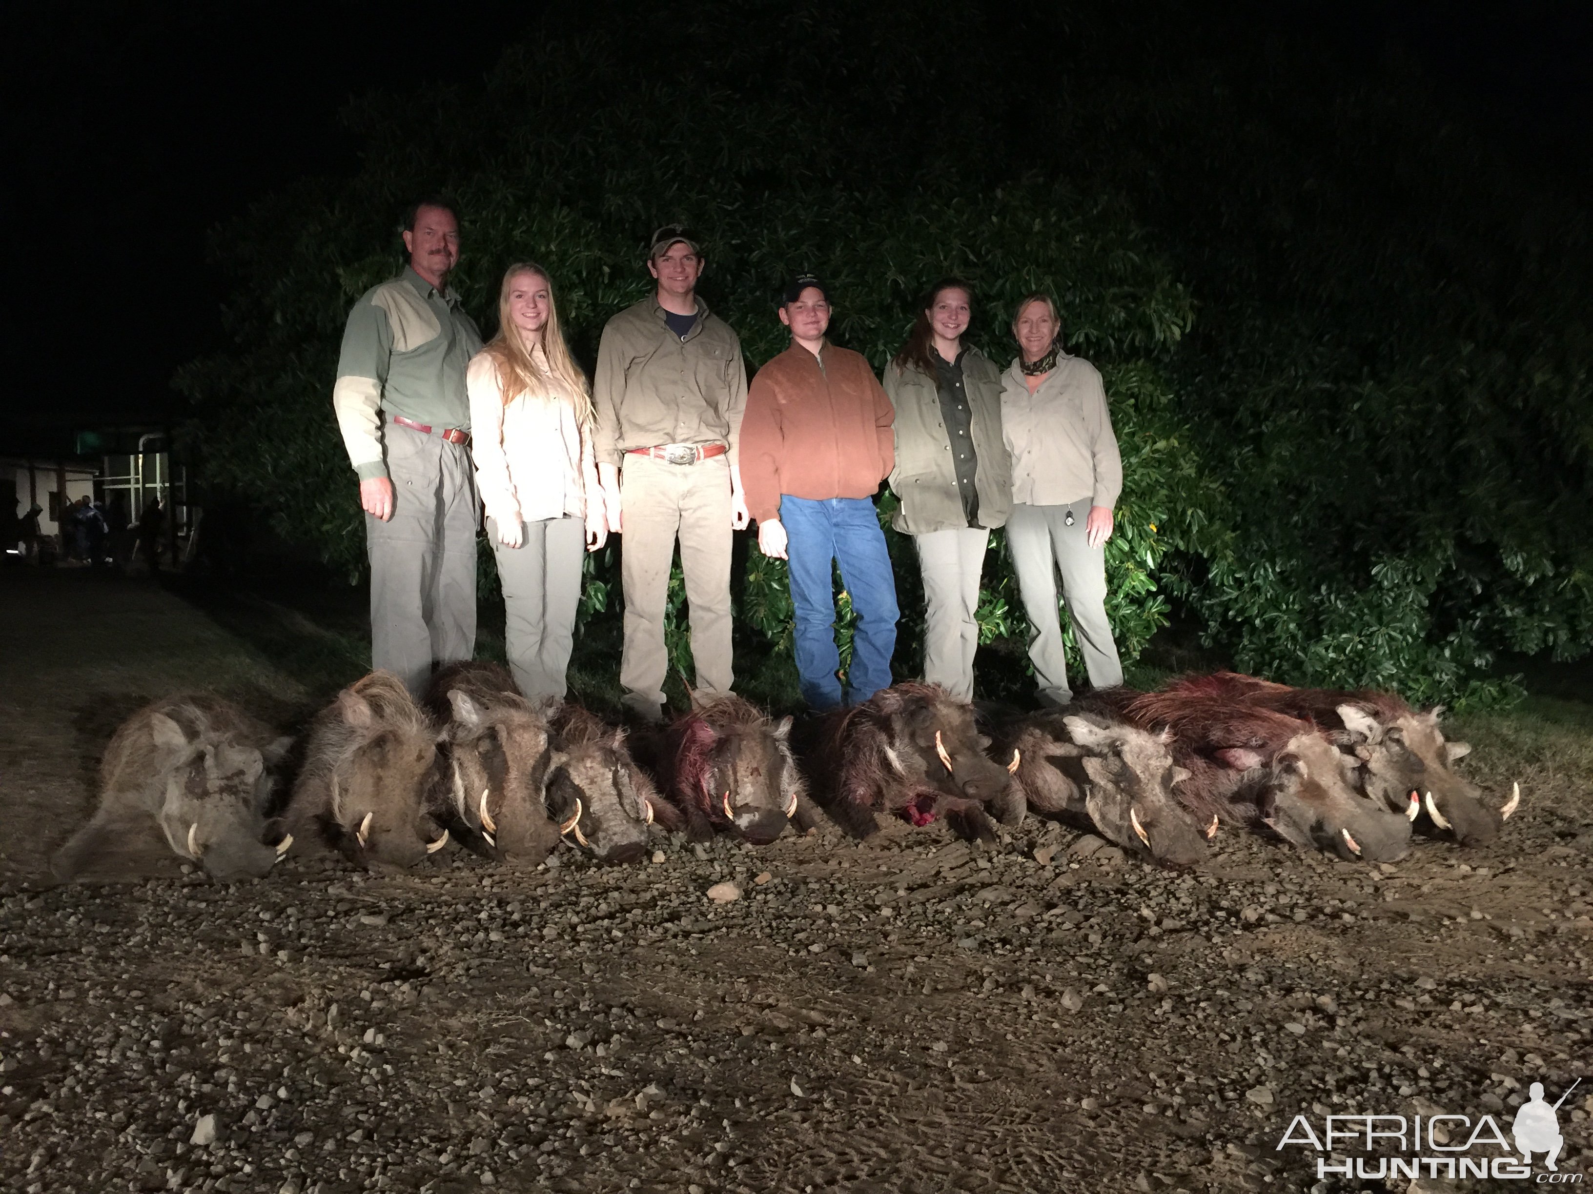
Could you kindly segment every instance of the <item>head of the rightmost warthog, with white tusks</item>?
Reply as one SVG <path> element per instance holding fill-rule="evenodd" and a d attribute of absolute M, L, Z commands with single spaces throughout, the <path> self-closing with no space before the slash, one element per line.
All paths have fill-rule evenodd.
<path fill-rule="evenodd" d="M 1454 763 L 1470 753 L 1466 742 L 1446 742 L 1438 729 L 1442 708 L 1418 713 L 1408 708 L 1372 710 L 1343 704 L 1338 716 L 1360 759 L 1360 785 L 1391 809 L 1424 812 L 1440 833 L 1461 845 L 1488 845 L 1521 802 L 1517 785 L 1501 809 L 1483 802 L 1481 793 Z"/>

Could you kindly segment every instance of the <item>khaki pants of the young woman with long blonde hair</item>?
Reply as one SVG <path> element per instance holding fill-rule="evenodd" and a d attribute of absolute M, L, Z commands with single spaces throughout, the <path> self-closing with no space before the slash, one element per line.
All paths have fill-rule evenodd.
<path fill-rule="evenodd" d="M 581 557 L 586 524 L 577 517 L 521 524 L 518 548 L 499 543 L 487 519 L 487 538 L 503 584 L 503 646 L 519 691 L 535 700 L 564 697 L 569 689 L 575 608 L 581 600 Z"/>

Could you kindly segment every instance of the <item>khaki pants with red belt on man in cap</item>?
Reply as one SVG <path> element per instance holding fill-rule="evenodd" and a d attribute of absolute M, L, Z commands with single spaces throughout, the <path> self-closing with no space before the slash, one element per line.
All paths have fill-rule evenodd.
<path fill-rule="evenodd" d="M 664 608 L 677 538 L 691 611 L 693 683 L 704 694 L 730 691 L 730 462 L 717 455 L 695 465 L 671 465 L 628 452 L 620 474 L 620 508 L 624 511 L 620 685 L 626 705 L 658 720 L 669 672 Z"/>

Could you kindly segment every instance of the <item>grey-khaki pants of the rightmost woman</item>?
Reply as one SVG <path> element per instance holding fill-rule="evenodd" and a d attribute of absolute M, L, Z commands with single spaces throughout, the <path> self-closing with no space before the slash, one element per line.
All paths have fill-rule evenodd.
<path fill-rule="evenodd" d="M 1067 511 L 1074 525 L 1067 525 Z M 1007 519 L 1007 549 L 1018 573 L 1018 591 L 1029 615 L 1029 659 L 1034 662 L 1040 700 L 1066 705 L 1067 686 L 1063 626 L 1056 613 L 1056 575 L 1063 576 L 1063 603 L 1074 624 L 1074 638 L 1085 670 L 1096 688 L 1123 683 L 1112 624 L 1106 619 L 1106 551 L 1085 538 L 1090 498 L 1070 506 L 1026 506 L 1015 501 Z"/>

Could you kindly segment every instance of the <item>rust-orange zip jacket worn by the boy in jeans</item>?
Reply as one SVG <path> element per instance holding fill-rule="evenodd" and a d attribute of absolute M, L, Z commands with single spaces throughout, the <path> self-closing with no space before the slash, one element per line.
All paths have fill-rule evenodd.
<path fill-rule="evenodd" d="M 777 519 L 781 495 L 873 497 L 895 463 L 890 400 L 859 352 L 800 344 L 752 379 L 741 425 L 741 486 L 753 519 Z"/>

